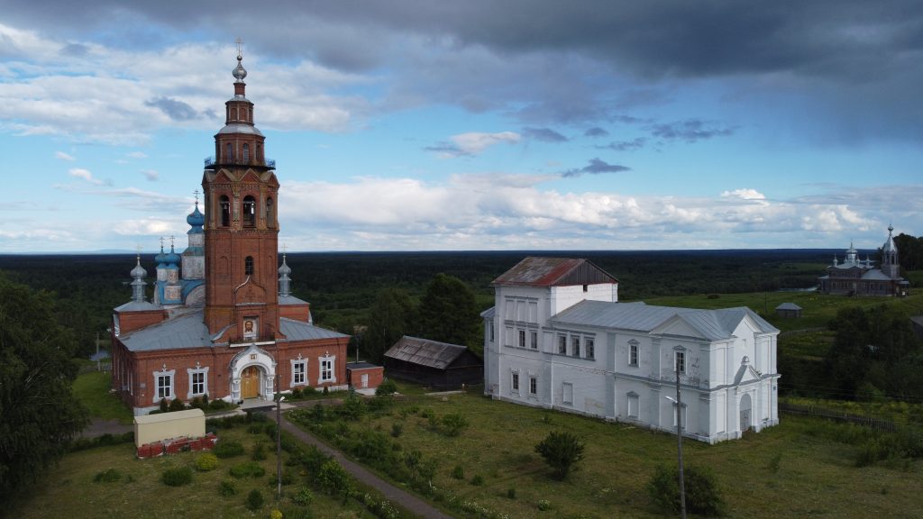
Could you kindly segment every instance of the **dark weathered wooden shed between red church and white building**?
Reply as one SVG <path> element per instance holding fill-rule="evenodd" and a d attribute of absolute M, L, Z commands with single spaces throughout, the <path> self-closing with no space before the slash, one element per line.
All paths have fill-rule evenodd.
<path fill-rule="evenodd" d="M 385 353 L 385 372 L 438 389 L 484 382 L 484 362 L 466 346 L 407 335 Z"/>

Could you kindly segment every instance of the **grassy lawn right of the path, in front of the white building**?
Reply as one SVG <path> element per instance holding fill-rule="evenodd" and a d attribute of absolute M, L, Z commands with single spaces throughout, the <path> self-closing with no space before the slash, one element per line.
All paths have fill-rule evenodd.
<path fill-rule="evenodd" d="M 459 413 L 470 425 L 459 437 L 444 436 L 422 416 L 430 410 L 437 416 Z M 432 483 L 439 491 L 460 501 L 476 501 L 490 513 L 664 516 L 650 503 L 645 484 L 657 464 L 675 463 L 673 436 L 471 393 L 409 397 L 389 412 L 366 416 L 350 427 L 391 431 L 395 423 L 402 424 L 402 434 L 395 440 L 402 452 L 418 450 L 425 459 L 438 460 Z M 740 441 L 716 445 L 685 441 L 686 463 L 713 470 L 731 517 L 920 516 L 923 462 L 899 460 L 857 468 L 858 448 L 821 438 L 817 427 L 817 420 L 784 416 L 782 425 Z M 533 452 L 548 432 L 561 429 L 586 442 L 585 459 L 565 482 L 551 479 L 544 461 Z M 463 479 L 452 477 L 456 465 L 462 467 Z M 484 485 L 473 484 L 477 476 Z M 551 510 L 539 512 L 539 500 L 550 501 Z"/>

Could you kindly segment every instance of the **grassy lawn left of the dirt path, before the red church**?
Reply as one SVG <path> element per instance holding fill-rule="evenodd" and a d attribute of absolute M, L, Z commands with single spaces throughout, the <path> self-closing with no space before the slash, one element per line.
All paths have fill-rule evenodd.
<path fill-rule="evenodd" d="M 126 443 L 68 454 L 41 483 L 20 492 L 18 502 L 4 512 L 9 513 L 9 517 L 24 519 L 269 517 L 270 511 L 277 506 L 274 443 L 265 434 L 250 434 L 242 427 L 222 429 L 219 438 L 220 441 L 241 442 L 246 453 L 220 459 L 218 468 L 211 472 L 195 472 L 188 486 L 168 487 L 161 482 L 161 475 L 171 467 L 186 465 L 194 468 L 199 453 L 138 460 L 134 444 Z M 250 461 L 252 446 L 257 441 L 267 448 L 267 458 L 258 462 L 265 468 L 265 476 L 244 479 L 229 476 L 231 466 Z M 282 455 L 286 456 L 285 453 Z M 121 478 L 110 483 L 93 481 L 97 474 L 109 468 L 117 470 Z M 283 470 L 286 469 L 301 470 L 283 465 Z M 222 496 L 219 492 L 222 481 L 234 484 L 234 496 Z M 286 518 L 298 517 L 295 511 L 305 511 L 290 499 L 297 489 L 307 485 L 305 481 L 306 477 L 295 474 L 294 483 L 282 487 L 286 496 L 282 499 L 282 510 L 290 512 L 285 515 Z M 260 490 L 265 498 L 265 504 L 256 512 L 246 507 L 246 497 L 252 489 Z M 309 509 L 309 514 L 302 515 L 317 519 L 360 516 L 358 505 L 351 503 L 344 506 L 341 501 L 332 500 L 318 491 L 314 491 L 314 502 Z"/>

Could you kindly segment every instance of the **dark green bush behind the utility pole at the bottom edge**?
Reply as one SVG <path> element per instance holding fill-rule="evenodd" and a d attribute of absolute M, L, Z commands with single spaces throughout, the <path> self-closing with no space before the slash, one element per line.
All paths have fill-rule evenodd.
<path fill-rule="evenodd" d="M 695 466 L 683 469 L 686 487 L 686 510 L 701 515 L 720 515 L 723 500 L 718 492 L 712 473 Z M 648 493 L 654 504 L 661 508 L 679 512 L 679 469 L 658 465 L 647 484 Z"/>

